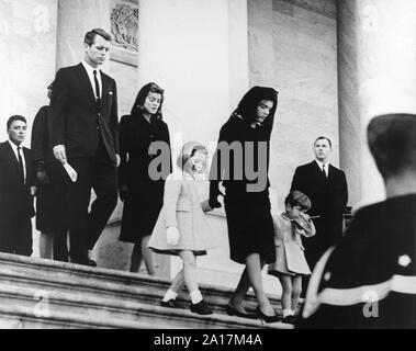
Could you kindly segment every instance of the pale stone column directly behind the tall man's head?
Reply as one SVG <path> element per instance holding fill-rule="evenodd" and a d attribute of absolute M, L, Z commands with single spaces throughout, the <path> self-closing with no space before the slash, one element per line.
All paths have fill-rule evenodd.
<path fill-rule="evenodd" d="M 110 0 L 58 0 L 56 69 L 78 64 L 85 34 L 98 27 L 110 32 Z"/>

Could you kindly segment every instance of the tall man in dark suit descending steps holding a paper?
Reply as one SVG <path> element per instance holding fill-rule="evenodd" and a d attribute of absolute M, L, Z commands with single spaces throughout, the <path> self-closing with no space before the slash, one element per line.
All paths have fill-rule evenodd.
<path fill-rule="evenodd" d="M 114 79 L 100 70 L 111 35 L 98 29 L 86 34 L 85 59 L 56 73 L 49 105 L 49 138 L 54 157 L 77 172 L 71 181 L 61 165 L 52 177 L 66 188 L 72 262 L 95 265 L 91 250 L 117 201 L 117 98 Z M 91 189 L 97 194 L 88 212 Z"/>

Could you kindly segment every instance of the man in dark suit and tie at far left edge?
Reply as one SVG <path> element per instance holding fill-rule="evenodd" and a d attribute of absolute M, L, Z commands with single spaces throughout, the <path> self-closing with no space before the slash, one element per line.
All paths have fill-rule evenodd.
<path fill-rule="evenodd" d="M 9 140 L 0 144 L 0 251 L 31 256 L 35 213 L 31 150 L 22 147 L 26 120 L 11 116 L 7 127 Z"/>

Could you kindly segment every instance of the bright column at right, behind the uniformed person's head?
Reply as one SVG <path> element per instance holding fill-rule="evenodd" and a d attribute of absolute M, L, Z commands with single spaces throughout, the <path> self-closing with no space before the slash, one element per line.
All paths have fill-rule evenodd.
<path fill-rule="evenodd" d="M 340 159 L 350 204 L 360 206 L 385 197 L 367 145 L 369 121 L 416 112 L 416 2 L 337 3 Z"/>

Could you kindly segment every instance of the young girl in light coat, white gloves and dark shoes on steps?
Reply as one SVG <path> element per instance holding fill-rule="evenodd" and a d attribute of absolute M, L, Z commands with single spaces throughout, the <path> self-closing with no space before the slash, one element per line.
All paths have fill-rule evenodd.
<path fill-rule="evenodd" d="M 191 312 L 210 315 L 196 280 L 196 256 L 215 248 L 215 234 L 204 212 L 211 211 L 207 201 L 201 202 L 195 180 L 206 168 L 206 149 L 194 141 L 187 143 L 178 158 L 179 174 L 170 174 L 165 183 L 164 207 L 155 225 L 148 247 L 158 253 L 175 254 L 183 268 L 166 292 L 161 306 L 178 307 L 178 291 L 185 284 L 191 297 Z"/>

